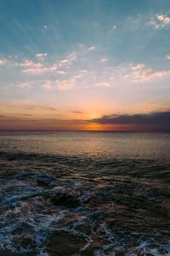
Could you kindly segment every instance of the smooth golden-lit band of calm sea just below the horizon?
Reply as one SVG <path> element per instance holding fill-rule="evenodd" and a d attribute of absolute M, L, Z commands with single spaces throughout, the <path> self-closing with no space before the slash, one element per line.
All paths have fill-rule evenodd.
<path fill-rule="evenodd" d="M 3 151 L 169 160 L 170 133 L 2 131 Z"/>

